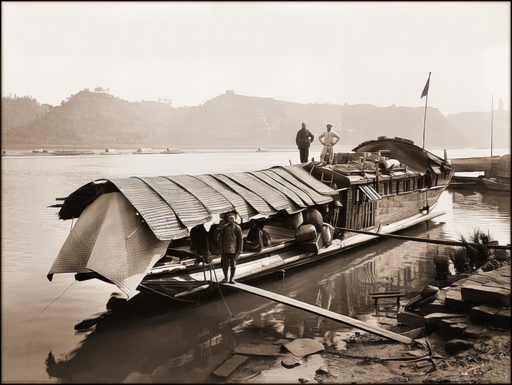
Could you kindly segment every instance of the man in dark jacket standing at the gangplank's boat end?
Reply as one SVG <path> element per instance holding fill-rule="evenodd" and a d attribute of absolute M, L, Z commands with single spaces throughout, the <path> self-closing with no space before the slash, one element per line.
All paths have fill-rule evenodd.
<path fill-rule="evenodd" d="M 229 283 L 234 284 L 234 270 L 237 266 L 237 259 L 242 252 L 243 238 L 242 228 L 238 223 L 234 222 L 236 216 L 233 213 L 229 213 L 227 216 L 228 223 L 225 224 L 221 233 L 219 234 L 219 248 L 221 252 L 221 265 L 222 272 L 224 273 L 224 279 L 221 284 L 227 282 L 227 270 L 231 267 L 231 274 Z"/>

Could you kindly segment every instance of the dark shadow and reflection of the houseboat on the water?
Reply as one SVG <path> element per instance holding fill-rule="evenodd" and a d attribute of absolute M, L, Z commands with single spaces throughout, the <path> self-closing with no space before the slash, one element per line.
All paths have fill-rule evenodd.
<path fill-rule="evenodd" d="M 432 224 L 431 230 L 440 225 Z M 408 229 L 424 235 L 424 225 Z M 368 293 L 402 290 L 413 297 L 432 284 L 432 246 L 395 239 L 371 241 L 314 264 L 248 282 L 353 318 L 371 317 Z M 240 343 L 328 338 L 350 328 L 305 311 L 222 287 L 199 306 L 140 293 L 113 300 L 108 311 L 77 324 L 81 344 L 65 357 L 49 353 L 49 376 L 62 382 L 221 382 L 211 373 Z M 332 337 L 332 335 L 331 335 Z M 330 338 L 330 337 L 329 337 Z M 326 341 L 332 343 L 333 341 Z"/>

